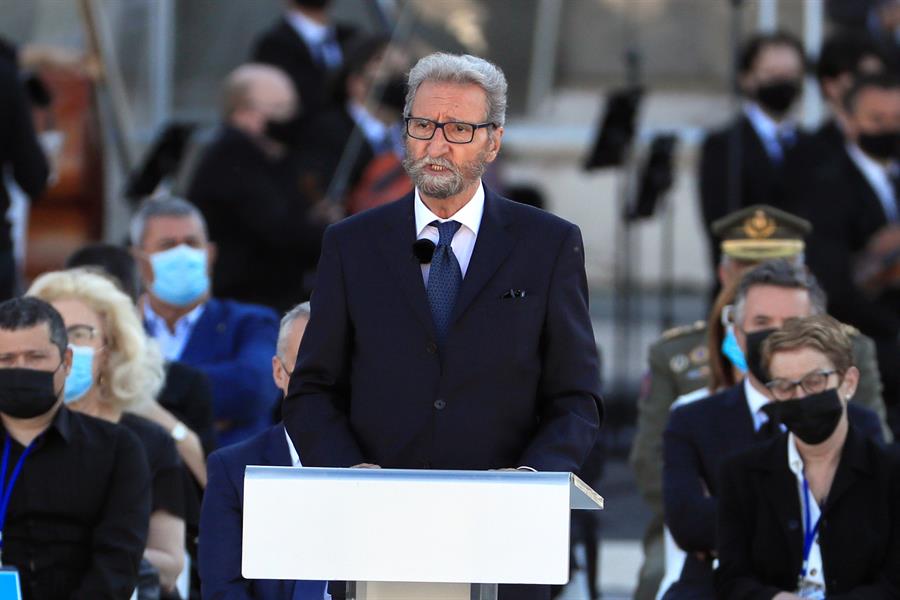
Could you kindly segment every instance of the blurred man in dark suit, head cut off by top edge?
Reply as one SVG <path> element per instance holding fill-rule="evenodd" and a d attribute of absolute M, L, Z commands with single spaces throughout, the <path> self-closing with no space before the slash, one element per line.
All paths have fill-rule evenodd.
<path fill-rule="evenodd" d="M 356 29 L 331 23 L 330 0 L 287 0 L 284 16 L 254 42 L 253 62 L 284 71 L 303 99 L 302 114 L 292 121 L 294 142 L 301 144 L 313 117 L 328 107 L 328 79 L 344 62 Z"/>

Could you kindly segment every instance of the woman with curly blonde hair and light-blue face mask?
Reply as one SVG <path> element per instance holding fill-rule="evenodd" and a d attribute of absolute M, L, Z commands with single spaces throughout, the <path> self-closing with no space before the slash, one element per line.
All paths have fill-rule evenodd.
<path fill-rule="evenodd" d="M 136 414 L 163 410 L 154 400 L 163 384 L 162 356 L 131 300 L 102 275 L 46 273 L 28 295 L 52 304 L 65 321 L 73 353 L 64 392 L 69 408 L 127 427 L 144 446 L 153 479 L 144 558 L 171 591 L 184 566 L 184 476 L 173 438 Z"/>

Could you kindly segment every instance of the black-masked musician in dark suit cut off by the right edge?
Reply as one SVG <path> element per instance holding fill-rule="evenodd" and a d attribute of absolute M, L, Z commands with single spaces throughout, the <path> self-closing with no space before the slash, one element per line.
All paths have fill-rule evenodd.
<path fill-rule="evenodd" d="M 807 264 L 828 294 L 829 313 L 875 340 L 885 403 L 898 431 L 900 415 L 891 406 L 900 401 L 900 310 L 892 294 L 878 297 L 861 289 L 858 259 L 874 236 L 900 225 L 900 81 L 859 77 L 844 109 L 843 152 L 798 172 L 791 190 L 799 214 L 813 224 Z"/>

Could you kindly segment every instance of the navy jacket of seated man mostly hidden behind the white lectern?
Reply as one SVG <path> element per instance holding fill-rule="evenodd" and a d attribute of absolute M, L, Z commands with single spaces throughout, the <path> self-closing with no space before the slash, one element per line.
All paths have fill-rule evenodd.
<path fill-rule="evenodd" d="M 200 581 L 204 600 L 322 600 L 324 581 L 247 580 L 241 577 L 244 471 L 247 465 L 291 466 L 279 423 L 209 456 L 200 513 Z M 295 586 L 307 592 L 295 598 Z"/>

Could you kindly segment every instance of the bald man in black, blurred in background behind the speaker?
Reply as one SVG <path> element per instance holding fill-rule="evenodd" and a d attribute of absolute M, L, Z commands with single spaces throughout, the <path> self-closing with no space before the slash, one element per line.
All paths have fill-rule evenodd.
<path fill-rule="evenodd" d="M 303 186 L 291 148 L 299 103 L 290 79 L 268 65 L 243 65 L 225 81 L 222 125 L 187 193 L 218 245 L 217 297 L 278 311 L 306 299 L 322 232 L 335 216 Z"/>

